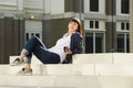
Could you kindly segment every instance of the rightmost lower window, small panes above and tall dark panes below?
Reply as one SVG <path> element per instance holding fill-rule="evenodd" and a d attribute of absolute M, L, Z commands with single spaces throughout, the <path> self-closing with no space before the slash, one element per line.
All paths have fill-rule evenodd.
<path fill-rule="evenodd" d="M 129 22 L 116 22 L 117 31 L 117 52 L 129 53 L 130 52 L 130 23 Z"/>

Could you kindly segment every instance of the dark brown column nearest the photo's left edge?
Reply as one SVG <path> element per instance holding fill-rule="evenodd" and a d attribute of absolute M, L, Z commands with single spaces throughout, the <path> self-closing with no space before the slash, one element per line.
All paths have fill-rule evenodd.
<path fill-rule="evenodd" d="M 13 18 L 11 16 L 6 16 L 4 18 L 4 31 L 3 31 L 3 63 L 8 64 L 9 63 L 9 56 L 13 53 Z"/>

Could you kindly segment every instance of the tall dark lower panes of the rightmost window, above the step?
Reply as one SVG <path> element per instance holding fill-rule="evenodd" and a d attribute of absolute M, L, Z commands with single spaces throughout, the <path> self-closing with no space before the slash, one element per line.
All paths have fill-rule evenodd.
<path fill-rule="evenodd" d="M 129 34 L 117 34 L 117 52 L 130 52 L 130 38 Z"/>

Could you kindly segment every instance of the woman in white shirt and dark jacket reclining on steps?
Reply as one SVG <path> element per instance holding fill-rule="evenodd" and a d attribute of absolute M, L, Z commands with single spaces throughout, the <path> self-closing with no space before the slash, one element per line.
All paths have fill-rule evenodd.
<path fill-rule="evenodd" d="M 47 48 L 42 41 L 37 36 L 32 36 L 22 50 L 19 58 L 12 62 L 12 66 L 27 64 L 18 74 L 32 75 L 31 57 L 32 53 L 43 64 L 59 64 L 63 63 L 68 55 L 82 53 L 82 26 L 81 21 L 76 18 L 70 20 L 68 24 L 68 32 L 63 37 L 57 41 L 57 44 Z M 27 57 L 27 62 L 24 61 Z"/>

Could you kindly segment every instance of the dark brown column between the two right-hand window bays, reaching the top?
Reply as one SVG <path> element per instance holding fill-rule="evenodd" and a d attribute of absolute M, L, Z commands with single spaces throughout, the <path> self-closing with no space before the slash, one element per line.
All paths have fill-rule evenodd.
<path fill-rule="evenodd" d="M 115 0 L 106 0 L 106 52 L 115 52 L 116 48 L 116 23 L 115 23 Z"/>

